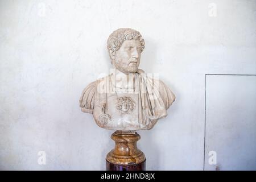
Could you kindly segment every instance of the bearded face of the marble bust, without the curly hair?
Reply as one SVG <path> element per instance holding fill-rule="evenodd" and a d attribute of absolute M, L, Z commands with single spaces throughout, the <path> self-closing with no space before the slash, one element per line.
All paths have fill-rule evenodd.
<path fill-rule="evenodd" d="M 123 73 L 136 73 L 141 60 L 142 46 L 139 40 L 125 40 L 115 52 L 113 64 Z"/>

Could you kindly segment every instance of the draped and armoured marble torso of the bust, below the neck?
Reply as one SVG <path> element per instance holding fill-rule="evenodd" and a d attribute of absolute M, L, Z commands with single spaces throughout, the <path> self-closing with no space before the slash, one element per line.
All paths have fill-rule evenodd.
<path fill-rule="evenodd" d="M 118 85 L 109 75 L 84 90 L 80 106 L 92 113 L 97 125 L 110 130 L 151 129 L 175 100 L 171 90 L 151 77 L 134 73 L 133 81 Z M 157 83 L 157 84 L 156 84 Z"/>

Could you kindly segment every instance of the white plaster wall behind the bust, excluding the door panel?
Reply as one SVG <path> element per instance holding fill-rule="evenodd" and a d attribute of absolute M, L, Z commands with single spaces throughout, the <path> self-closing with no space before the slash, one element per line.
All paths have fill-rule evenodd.
<path fill-rule="evenodd" d="M 105 169 L 112 131 L 81 112 L 79 97 L 109 72 L 106 39 L 119 27 L 141 32 L 141 68 L 176 94 L 168 117 L 139 131 L 147 169 L 203 169 L 205 74 L 256 73 L 255 9 L 239 0 L 1 0 L 0 169 Z"/>

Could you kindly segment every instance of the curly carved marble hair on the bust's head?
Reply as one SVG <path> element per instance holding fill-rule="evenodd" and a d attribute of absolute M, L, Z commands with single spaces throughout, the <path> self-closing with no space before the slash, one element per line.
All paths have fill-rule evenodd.
<path fill-rule="evenodd" d="M 145 42 L 138 31 L 131 28 L 119 28 L 109 35 L 107 42 L 109 53 L 112 53 L 114 56 L 115 51 L 118 51 L 125 40 L 139 40 L 142 46 L 141 51 L 143 51 Z"/>

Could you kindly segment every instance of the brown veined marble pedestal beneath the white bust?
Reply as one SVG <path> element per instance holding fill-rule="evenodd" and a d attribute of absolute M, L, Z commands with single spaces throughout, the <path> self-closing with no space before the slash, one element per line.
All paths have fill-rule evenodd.
<path fill-rule="evenodd" d="M 108 171 L 144 171 L 146 157 L 137 148 L 137 141 L 141 136 L 135 131 L 115 131 L 111 138 L 115 148 L 106 156 L 106 170 Z"/>

